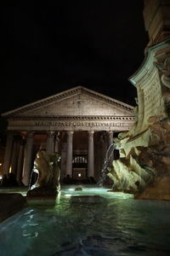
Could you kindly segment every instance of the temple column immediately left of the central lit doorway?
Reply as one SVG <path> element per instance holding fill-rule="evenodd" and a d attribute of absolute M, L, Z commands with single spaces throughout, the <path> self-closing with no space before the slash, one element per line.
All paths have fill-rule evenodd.
<path fill-rule="evenodd" d="M 66 175 L 72 177 L 72 138 L 73 131 L 67 131 L 67 148 L 66 148 Z"/>

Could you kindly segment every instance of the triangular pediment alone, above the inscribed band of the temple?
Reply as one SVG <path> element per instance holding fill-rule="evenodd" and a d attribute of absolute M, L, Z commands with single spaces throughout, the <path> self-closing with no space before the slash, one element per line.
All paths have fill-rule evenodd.
<path fill-rule="evenodd" d="M 133 116 L 133 107 L 94 90 L 77 86 L 16 108 L 5 117 Z"/>

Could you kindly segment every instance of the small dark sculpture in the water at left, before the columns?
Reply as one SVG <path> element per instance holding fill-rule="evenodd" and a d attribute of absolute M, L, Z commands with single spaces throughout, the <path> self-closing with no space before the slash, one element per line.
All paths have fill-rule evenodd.
<path fill-rule="evenodd" d="M 45 150 L 37 152 L 33 172 L 37 173 L 37 181 L 31 186 L 27 196 L 53 196 L 60 190 L 60 156 L 48 154 Z"/>

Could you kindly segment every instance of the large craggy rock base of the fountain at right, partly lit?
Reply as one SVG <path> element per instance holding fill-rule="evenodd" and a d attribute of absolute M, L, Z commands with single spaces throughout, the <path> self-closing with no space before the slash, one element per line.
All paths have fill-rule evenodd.
<path fill-rule="evenodd" d="M 170 200 L 170 118 L 149 121 L 149 129 L 136 141 L 126 137 L 123 144 L 120 140 L 120 158 L 113 161 L 107 175 L 115 191 L 133 193 L 135 198 Z"/>

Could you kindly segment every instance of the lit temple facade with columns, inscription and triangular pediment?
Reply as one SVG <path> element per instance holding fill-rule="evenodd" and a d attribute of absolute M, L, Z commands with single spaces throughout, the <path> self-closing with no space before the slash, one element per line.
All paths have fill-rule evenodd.
<path fill-rule="evenodd" d="M 3 174 L 13 172 L 26 186 L 37 151 L 61 156 L 61 178 L 98 179 L 114 134 L 134 123 L 133 107 L 77 86 L 8 113 Z"/>

